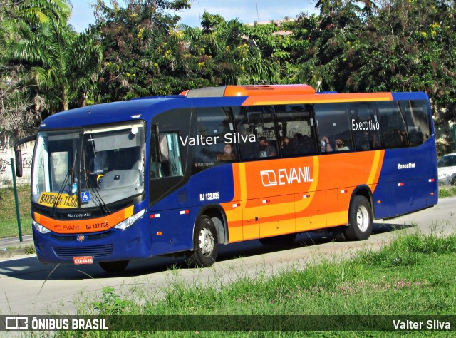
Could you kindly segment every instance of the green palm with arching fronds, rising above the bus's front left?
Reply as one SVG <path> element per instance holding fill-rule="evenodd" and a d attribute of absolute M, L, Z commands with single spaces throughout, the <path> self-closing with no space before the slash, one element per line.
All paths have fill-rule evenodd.
<path fill-rule="evenodd" d="M 46 9 L 39 20 L 31 16 L 35 13 L 30 7 L 33 3 Z M 67 25 L 71 15 L 68 0 L 26 2 L 19 13 L 24 25 L 14 56 L 28 64 L 37 92 L 46 98 L 48 113 L 66 111 L 97 71 L 100 46 L 90 31 L 76 34 Z"/>

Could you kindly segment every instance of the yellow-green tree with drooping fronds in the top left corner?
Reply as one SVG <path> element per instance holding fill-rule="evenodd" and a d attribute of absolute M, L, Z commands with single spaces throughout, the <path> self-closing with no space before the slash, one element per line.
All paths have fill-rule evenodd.
<path fill-rule="evenodd" d="M 45 106 L 37 85 L 48 76 L 41 66 L 48 65 L 51 58 L 43 47 L 49 29 L 57 29 L 69 13 L 66 1 L 1 0 L 0 46 L 4 53 L 0 59 L 0 95 L 4 100 L 0 109 L 5 133 L 23 134 L 33 125 L 32 116 L 39 115 Z"/>

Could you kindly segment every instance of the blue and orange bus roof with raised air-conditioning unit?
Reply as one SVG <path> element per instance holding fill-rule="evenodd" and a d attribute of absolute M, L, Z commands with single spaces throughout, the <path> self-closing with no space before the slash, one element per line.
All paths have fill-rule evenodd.
<path fill-rule="evenodd" d="M 86 106 L 49 116 L 40 129 L 76 128 L 104 123 L 150 120 L 175 108 L 215 106 L 260 106 L 273 104 L 338 103 L 427 99 L 425 93 L 316 93 L 308 85 L 221 86 L 191 89 L 175 96 L 153 96 Z"/>

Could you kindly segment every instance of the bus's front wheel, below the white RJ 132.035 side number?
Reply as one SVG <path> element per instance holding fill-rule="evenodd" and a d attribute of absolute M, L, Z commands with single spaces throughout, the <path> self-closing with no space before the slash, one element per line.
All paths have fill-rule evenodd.
<path fill-rule="evenodd" d="M 210 267 L 217 258 L 219 238 L 214 222 L 202 215 L 195 227 L 195 250 L 187 255 L 189 267 Z"/>

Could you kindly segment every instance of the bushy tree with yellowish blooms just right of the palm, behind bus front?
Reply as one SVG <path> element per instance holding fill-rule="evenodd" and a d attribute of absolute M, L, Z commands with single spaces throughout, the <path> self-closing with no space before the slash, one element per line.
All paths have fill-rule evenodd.
<path fill-rule="evenodd" d="M 99 102 L 165 95 L 185 88 L 187 51 L 176 31 L 179 17 L 168 13 L 188 7 L 186 0 L 98 0 L 95 26 L 103 45 L 98 76 Z"/>

